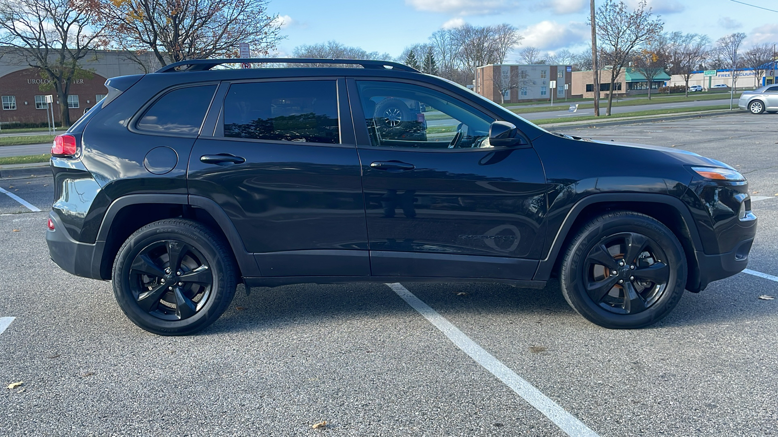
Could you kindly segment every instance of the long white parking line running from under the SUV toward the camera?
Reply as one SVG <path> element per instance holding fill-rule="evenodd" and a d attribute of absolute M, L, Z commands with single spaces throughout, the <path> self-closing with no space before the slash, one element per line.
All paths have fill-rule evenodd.
<path fill-rule="evenodd" d="M 573 414 L 569 414 L 564 408 L 560 407 L 553 400 L 549 399 L 540 390 L 532 386 L 531 383 L 527 383 L 521 376 L 518 376 L 508 366 L 499 362 L 497 358 L 494 358 L 492 354 L 485 351 L 484 348 L 478 346 L 475 341 L 472 341 L 470 337 L 465 335 L 459 328 L 451 324 L 445 317 L 441 316 L 434 309 L 430 308 L 421 299 L 416 297 L 412 292 L 408 291 L 402 284 L 387 284 L 389 288 L 394 290 L 408 305 L 418 311 L 429 323 L 432 323 L 436 328 L 440 330 L 448 339 L 457 345 L 464 353 L 470 355 L 475 362 L 489 372 L 496 376 L 497 379 L 509 386 L 511 390 L 516 392 L 520 397 L 523 397 L 530 405 L 535 407 L 538 411 L 543 413 L 545 417 L 551 419 L 556 426 L 562 429 L 567 435 L 571 437 L 599 437 L 597 433 L 591 430 L 591 428 L 584 425 L 584 422 L 579 421 Z"/>

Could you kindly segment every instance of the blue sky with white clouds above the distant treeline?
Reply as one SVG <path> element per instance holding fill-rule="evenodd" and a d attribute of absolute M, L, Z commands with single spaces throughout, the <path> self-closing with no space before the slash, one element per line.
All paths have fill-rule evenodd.
<path fill-rule="evenodd" d="M 640 0 L 623 0 L 637 5 Z M 775 0 L 741 0 L 778 11 Z M 596 0 L 595 5 L 603 3 Z M 647 0 L 668 32 L 703 33 L 716 41 L 730 33 L 747 35 L 743 47 L 778 43 L 778 12 L 732 0 Z M 524 37 L 517 47 L 541 51 L 587 49 L 588 0 L 270 0 L 268 14 L 278 14 L 282 35 L 279 56 L 294 47 L 336 40 L 365 51 L 398 57 L 405 47 L 426 43 L 440 29 L 509 23 Z M 506 61 L 516 61 L 515 51 Z"/>

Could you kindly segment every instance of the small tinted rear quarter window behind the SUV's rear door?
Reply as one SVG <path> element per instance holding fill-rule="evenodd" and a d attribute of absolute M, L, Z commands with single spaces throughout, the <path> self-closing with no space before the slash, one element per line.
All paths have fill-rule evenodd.
<path fill-rule="evenodd" d="M 138 121 L 138 129 L 197 135 L 216 85 L 173 89 L 156 101 Z"/>

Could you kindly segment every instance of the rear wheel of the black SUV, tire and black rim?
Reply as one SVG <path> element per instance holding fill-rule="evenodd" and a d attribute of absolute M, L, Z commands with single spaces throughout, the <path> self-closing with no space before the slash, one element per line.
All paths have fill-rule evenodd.
<path fill-rule="evenodd" d="M 144 330 L 193 334 L 232 302 L 235 264 L 229 246 L 204 225 L 183 218 L 159 220 L 135 231 L 119 249 L 114 295 L 124 314 Z"/>

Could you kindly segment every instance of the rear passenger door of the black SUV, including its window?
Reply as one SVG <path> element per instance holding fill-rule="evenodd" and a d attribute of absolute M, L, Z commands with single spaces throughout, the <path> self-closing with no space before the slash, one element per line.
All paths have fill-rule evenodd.
<path fill-rule="evenodd" d="M 262 276 L 369 275 L 344 79 L 224 82 L 214 107 L 189 193 L 223 208 Z"/>

